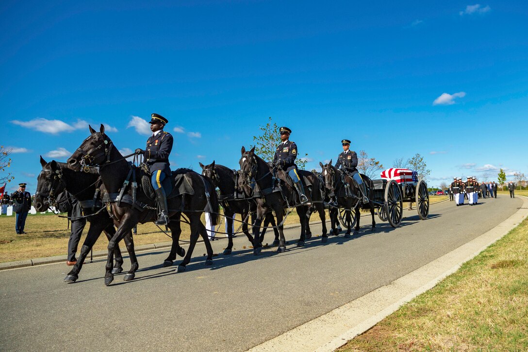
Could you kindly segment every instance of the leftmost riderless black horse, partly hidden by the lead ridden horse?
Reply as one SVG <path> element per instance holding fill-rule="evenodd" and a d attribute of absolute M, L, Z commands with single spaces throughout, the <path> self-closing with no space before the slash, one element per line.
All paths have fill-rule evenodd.
<path fill-rule="evenodd" d="M 108 216 L 106 208 L 101 209 L 103 205 L 100 199 L 99 188 L 101 187 L 101 180 L 99 175 L 72 171 L 67 168 L 65 163 L 54 160 L 48 163 L 42 156 L 40 157 L 40 164 L 42 165 L 42 171 L 37 177 L 34 201 L 36 211 L 48 210 L 60 193 L 68 191 L 81 202 L 84 214 L 89 215 L 86 219 L 90 223 L 90 228 L 82 244 L 78 261 L 64 279 L 64 282 L 75 282 L 79 279 L 79 272 L 82 269 L 84 260 L 101 233 L 104 231 L 108 240 L 111 240 L 116 233 L 116 229 L 112 219 Z M 137 258 L 134 251 L 131 251 L 131 248 L 134 247 L 131 233 L 127 234 L 124 240 L 130 254 L 132 268 L 134 268 L 137 266 Z M 116 265 L 112 269 L 112 274 L 118 274 L 123 271 L 123 258 L 119 246 L 116 246 L 114 255 L 116 256 Z M 133 270 L 132 268 L 130 270 Z"/>

